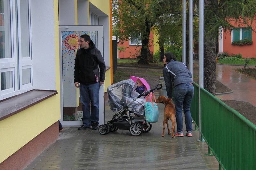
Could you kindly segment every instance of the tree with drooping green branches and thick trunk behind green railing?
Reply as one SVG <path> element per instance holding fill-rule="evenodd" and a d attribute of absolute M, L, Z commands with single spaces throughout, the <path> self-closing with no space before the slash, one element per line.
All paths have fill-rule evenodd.
<path fill-rule="evenodd" d="M 216 43 L 220 28 L 232 30 L 229 23 L 252 25 L 255 0 L 204 0 L 204 89 L 215 95 Z"/>

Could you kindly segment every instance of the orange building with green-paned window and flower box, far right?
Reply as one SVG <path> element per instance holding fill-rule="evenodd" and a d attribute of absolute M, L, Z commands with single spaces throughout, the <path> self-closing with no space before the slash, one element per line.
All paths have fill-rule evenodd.
<path fill-rule="evenodd" d="M 243 58 L 256 57 L 256 17 L 251 25 L 248 27 L 245 24 L 238 24 L 234 20 L 229 22 L 234 25 L 233 30 L 220 29 L 221 35 L 219 37 L 219 52 L 228 53 L 229 55 L 242 54 Z M 249 22 L 250 23 L 250 22 Z M 236 40 L 251 39 L 252 45 L 232 45 L 231 43 Z"/>

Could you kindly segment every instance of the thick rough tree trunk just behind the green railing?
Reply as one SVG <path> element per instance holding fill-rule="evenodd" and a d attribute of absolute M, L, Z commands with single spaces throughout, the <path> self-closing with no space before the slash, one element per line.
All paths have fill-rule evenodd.
<path fill-rule="evenodd" d="M 212 14 L 204 15 L 204 25 L 210 23 L 210 17 L 217 10 L 218 0 L 205 0 L 205 11 L 209 9 Z M 204 89 L 215 95 L 216 92 L 216 35 L 211 32 L 209 25 L 204 26 Z"/>

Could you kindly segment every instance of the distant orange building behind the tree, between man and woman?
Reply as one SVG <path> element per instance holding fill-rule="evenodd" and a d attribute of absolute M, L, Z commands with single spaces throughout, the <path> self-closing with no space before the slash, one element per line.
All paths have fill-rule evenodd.
<path fill-rule="evenodd" d="M 118 59 L 134 59 L 140 55 L 141 40 L 139 38 L 129 39 L 128 41 L 124 41 L 123 44 L 119 41 L 118 47 L 123 47 L 123 50 L 118 50 Z M 149 34 L 149 50 L 150 53 L 155 53 L 153 32 Z"/>

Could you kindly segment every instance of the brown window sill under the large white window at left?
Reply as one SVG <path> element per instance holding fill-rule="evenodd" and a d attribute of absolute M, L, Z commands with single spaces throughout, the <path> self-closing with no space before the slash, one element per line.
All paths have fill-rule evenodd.
<path fill-rule="evenodd" d="M 31 90 L 0 101 L 0 121 L 58 94 L 55 90 Z"/>

